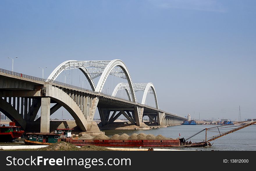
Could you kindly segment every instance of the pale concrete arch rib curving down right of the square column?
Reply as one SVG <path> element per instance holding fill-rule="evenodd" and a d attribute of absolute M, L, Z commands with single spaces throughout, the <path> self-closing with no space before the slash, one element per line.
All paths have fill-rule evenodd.
<path fill-rule="evenodd" d="M 88 123 L 77 103 L 67 93 L 57 87 L 51 86 L 49 89 L 51 91 L 51 99 L 62 105 L 75 119 L 77 126 L 82 131 L 86 131 Z"/>

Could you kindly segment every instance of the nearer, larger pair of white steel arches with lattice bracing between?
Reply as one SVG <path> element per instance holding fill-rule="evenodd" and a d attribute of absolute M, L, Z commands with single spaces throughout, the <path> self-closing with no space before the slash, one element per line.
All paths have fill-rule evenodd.
<path fill-rule="evenodd" d="M 49 75 L 48 79 L 55 80 L 63 70 L 70 70 L 76 68 L 80 69 L 83 72 L 83 74 L 88 79 L 88 82 L 90 83 L 92 90 L 95 92 L 102 91 L 102 88 L 109 74 L 123 79 L 127 79 L 129 84 L 128 90 L 131 92 L 130 100 L 136 102 L 135 92 L 131 81 L 130 73 L 125 63 L 119 59 L 114 59 L 112 61 L 68 60 L 61 63 L 58 67 L 56 67 L 53 70 L 53 72 Z M 101 77 L 99 78 L 97 86 L 95 86 L 93 79 L 99 76 Z"/>

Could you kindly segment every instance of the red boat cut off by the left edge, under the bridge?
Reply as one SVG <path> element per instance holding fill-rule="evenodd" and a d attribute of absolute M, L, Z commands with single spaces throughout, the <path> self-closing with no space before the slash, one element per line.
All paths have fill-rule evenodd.
<path fill-rule="evenodd" d="M 22 136 L 24 131 L 20 126 L 15 126 L 15 122 L 10 122 L 9 126 L 0 126 L 0 142 L 12 142 Z"/>

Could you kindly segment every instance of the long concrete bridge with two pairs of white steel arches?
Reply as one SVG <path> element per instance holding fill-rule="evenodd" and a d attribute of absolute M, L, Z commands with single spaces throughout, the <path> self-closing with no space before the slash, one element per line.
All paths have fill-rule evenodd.
<path fill-rule="evenodd" d="M 76 74 L 64 72 L 77 70 L 88 82 L 88 88 L 66 83 L 66 76 L 74 80 Z M 63 74 L 64 73 L 64 74 Z M 80 74 L 80 75 L 81 75 Z M 80 78 L 79 75 L 79 78 Z M 57 78 L 62 76 L 62 81 Z M 63 81 L 65 76 L 65 80 Z M 107 84 L 107 78 L 122 79 L 115 84 Z M 98 78 L 97 85 L 95 78 Z M 79 85 L 80 85 L 79 79 Z M 76 81 L 78 82 L 78 80 Z M 83 83 L 83 81 L 82 81 Z M 104 90 L 113 89 L 111 94 Z M 114 87 L 114 88 L 113 88 Z M 118 97 L 118 92 L 125 96 Z M 135 92 L 142 91 L 141 103 Z M 154 96 L 154 106 L 146 104 L 148 94 Z M 96 108 L 102 126 L 113 123 L 123 115 L 131 124 L 143 126 L 143 117 L 149 118 L 151 125 L 180 125 L 186 120 L 176 114 L 159 109 L 157 93 L 153 83 L 133 83 L 127 66 L 123 61 L 76 61 L 69 60 L 57 66 L 47 79 L 0 69 L 0 111 L 11 120 L 16 120 L 24 130 L 33 130 L 40 122 L 40 132 L 50 132 L 50 116 L 64 107 L 74 118 L 81 132 L 93 131 L 93 118 Z M 39 110 L 41 116 L 35 120 Z M 96 125 L 97 126 L 97 125 Z"/>

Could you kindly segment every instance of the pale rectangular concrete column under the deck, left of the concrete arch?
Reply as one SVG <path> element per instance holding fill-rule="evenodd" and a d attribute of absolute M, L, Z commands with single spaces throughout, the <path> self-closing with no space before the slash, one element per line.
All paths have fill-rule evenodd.
<path fill-rule="evenodd" d="M 41 99 L 41 123 L 40 132 L 50 133 L 50 98 Z"/>

